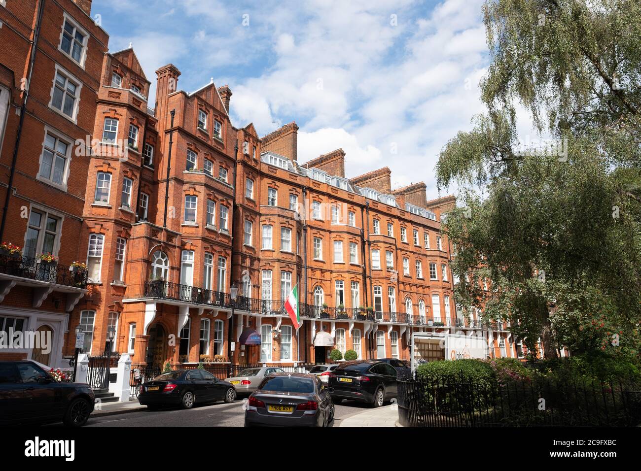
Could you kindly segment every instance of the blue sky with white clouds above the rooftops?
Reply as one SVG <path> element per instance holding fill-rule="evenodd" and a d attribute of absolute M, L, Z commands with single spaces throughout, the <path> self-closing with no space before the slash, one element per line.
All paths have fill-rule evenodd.
<path fill-rule="evenodd" d="M 229 85 L 231 119 L 263 136 L 296 120 L 303 163 L 342 147 L 345 174 L 387 165 L 392 188 L 438 197 L 438 152 L 485 110 L 482 0 L 94 0 L 110 51 L 152 81 L 174 63 L 188 92 Z"/>

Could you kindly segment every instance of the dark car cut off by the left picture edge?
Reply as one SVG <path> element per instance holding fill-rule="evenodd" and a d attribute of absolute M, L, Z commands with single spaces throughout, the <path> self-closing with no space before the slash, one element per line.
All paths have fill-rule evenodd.
<path fill-rule="evenodd" d="M 58 383 L 33 361 L 0 361 L 0 426 L 62 420 L 82 427 L 94 401 L 88 384 Z"/>

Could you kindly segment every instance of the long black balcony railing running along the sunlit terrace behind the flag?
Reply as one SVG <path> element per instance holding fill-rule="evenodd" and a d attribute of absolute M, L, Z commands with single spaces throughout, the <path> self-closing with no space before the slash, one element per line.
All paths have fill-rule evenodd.
<path fill-rule="evenodd" d="M 229 293 L 206 290 L 196 286 L 179 285 L 163 280 L 146 281 L 144 285 L 129 286 L 129 297 L 154 297 L 171 299 L 173 301 L 190 302 L 217 308 L 236 309 L 262 315 L 286 315 L 285 301 L 271 299 L 255 299 L 237 296 L 231 299 Z M 362 308 L 342 308 L 329 306 L 314 306 L 304 302 L 299 303 L 299 313 L 303 317 L 329 320 L 363 320 L 369 322 L 392 322 L 410 326 L 427 327 L 467 327 L 489 328 L 490 324 L 468 318 L 430 317 L 412 315 L 404 312 L 376 312 Z M 505 326 L 491 324 L 494 329 L 504 329 Z"/>

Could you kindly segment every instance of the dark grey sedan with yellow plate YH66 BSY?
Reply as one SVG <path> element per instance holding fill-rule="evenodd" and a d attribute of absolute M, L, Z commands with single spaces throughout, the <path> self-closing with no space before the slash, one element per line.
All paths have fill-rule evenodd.
<path fill-rule="evenodd" d="M 334 404 L 327 385 L 309 373 L 273 373 L 251 393 L 245 426 L 328 427 Z"/>

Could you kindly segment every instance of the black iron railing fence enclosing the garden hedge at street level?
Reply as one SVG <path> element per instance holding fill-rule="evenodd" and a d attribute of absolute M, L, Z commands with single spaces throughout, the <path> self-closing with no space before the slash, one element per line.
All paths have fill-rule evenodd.
<path fill-rule="evenodd" d="M 398 381 L 398 406 L 405 427 L 637 426 L 641 388 L 622 381 L 414 377 Z"/>

